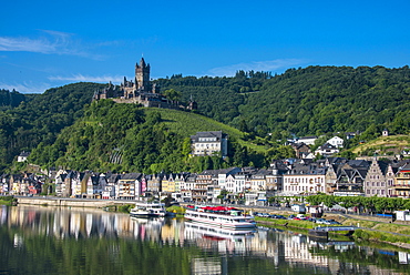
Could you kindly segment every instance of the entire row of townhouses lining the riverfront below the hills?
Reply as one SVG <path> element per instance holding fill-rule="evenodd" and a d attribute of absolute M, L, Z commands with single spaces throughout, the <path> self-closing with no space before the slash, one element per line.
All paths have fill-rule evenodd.
<path fill-rule="evenodd" d="M 410 197 L 410 161 L 328 157 L 275 161 L 268 169 L 229 167 L 202 173 L 93 173 L 60 170 L 54 192 L 62 197 L 139 200 L 173 196 L 184 202 L 266 204 L 270 196 L 362 195 Z M 1 194 L 38 194 L 42 182 L 33 174 L 1 177 Z"/>

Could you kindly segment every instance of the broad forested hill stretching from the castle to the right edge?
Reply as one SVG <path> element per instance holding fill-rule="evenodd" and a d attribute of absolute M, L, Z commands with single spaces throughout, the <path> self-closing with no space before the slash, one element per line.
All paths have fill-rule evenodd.
<path fill-rule="evenodd" d="M 158 83 L 181 91 L 184 101 L 193 96 L 204 115 L 259 136 L 366 130 L 371 136 L 383 128 L 398 134 L 410 129 L 409 67 L 308 67 L 274 78 L 173 75 Z"/>

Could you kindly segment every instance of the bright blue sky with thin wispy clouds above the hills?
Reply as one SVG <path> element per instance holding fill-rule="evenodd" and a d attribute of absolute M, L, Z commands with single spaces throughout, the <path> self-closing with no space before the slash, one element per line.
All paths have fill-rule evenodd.
<path fill-rule="evenodd" d="M 119 84 L 144 57 L 151 77 L 283 73 L 410 59 L 410 1 L 4 1 L 0 89 L 42 93 Z"/>

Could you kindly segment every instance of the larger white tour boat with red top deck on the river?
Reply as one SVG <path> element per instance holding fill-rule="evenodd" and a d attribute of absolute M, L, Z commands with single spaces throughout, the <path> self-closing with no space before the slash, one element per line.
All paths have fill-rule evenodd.
<path fill-rule="evenodd" d="M 248 230 L 256 227 L 254 216 L 235 207 L 187 206 L 185 218 L 218 228 Z"/>

